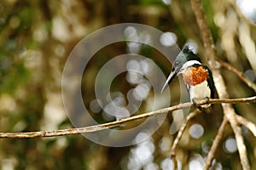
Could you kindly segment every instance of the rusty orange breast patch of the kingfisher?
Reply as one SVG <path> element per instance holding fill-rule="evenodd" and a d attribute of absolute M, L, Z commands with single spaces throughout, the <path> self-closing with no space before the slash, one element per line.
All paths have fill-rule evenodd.
<path fill-rule="evenodd" d="M 183 80 L 189 86 L 195 86 L 201 82 L 206 81 L 208 78 L 207 70 L 202 66 L 189 67 L 183 72 Z"/>

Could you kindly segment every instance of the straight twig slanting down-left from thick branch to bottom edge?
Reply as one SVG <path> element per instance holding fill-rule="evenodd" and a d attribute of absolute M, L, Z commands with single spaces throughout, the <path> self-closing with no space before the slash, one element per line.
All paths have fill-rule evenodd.
<path fill-rule="evenodd" d="M 211 150 L 208 153 L 207 161 L 206 161 L 206 164 L 204 166 L 204 170 L 207 170 L 212 166 L 212 161 L 214 159 L 214 155 L 215 155 L 216 151 L 218 150 L 218 146 L 219 146 L 221 140 L 223 139 L 224 129 L 225 129 L 227 124 L 228 124 L 228 120 L 224 117 L 224 120 L 222 121 L 220 127 L 218 128 L 218 133 L 217 133 L 215 139 L 212 142 L 212 147 L 211 147 Z"/>

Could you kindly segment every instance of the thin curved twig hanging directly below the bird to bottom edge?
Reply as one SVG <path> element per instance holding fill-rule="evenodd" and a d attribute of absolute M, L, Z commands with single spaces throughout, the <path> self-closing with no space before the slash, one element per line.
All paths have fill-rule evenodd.
<path fill-rule="evenodd" d="M 177 169 L 177 159 L 176 159 L 176 148 L 177 148 L 177 143 L 180 141 L 180 139 L 183 136 L 183 133 L 187 127 L 187 124 L 189 122 L 190 119 L 192 119 L 193 117 L 195 117 L 196 115 L 198 115 L 200 113 L 200 111 L 193 111 L 191 113 L 189 113 L 189 115 L 186 117 L 185 121 L 183 122 L 182 126 L 179 128 L 178 132 L 177 132 L 177 137 L 174 139 L 173 143 L 172 143 L 172 148 L 171 148 L 171 159 L 173 161 L 173 169 Z"/>

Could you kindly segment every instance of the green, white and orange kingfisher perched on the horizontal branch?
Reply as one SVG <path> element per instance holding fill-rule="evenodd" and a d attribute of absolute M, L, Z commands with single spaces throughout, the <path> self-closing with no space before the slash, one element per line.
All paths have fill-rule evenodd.
<path fill-rule="evenodd" d="M 177 58 L 172 65 L 172 71 L 167 78 L 161 93 L 166 89 L 168 84 L 182 74 L 183 82 L 189 91 L 190 101 L 196 105 L 196 101 L 201 99 L 214 98 L 214 82 L 212 72 L 207 65 L 201 64 L 199 56 L 189 49 L 189 45 L 185 45 L 182 51 L 177 54 Z M 211 104 L 198 106 L 198 109 L 207 113 L 212 112 Z"/>

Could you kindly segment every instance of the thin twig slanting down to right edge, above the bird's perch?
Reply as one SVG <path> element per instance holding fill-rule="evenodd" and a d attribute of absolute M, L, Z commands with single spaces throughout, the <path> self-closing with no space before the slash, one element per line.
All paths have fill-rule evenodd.
<path fill-rule="evenodd" d="M 256 92 L 256 84 L 247 79 L 247 77 L 241 71 L 237 70 L 233 65 L 230 65 L 229 63 L 226 63 L 222 60 L 218 60 L 218 62 L 220 63 L 220 65 L 234 72 L 237 77 L 241 79 L 241 81 L 245 82 L 248 87 L 253 88 L 253 90 Z"/>

